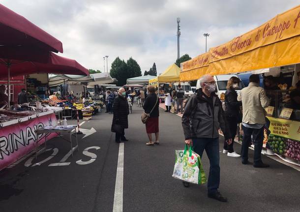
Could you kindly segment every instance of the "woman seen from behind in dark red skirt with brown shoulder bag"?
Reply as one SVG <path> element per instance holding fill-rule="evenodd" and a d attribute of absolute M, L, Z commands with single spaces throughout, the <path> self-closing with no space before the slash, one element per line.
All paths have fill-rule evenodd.
<path fill-rule="evenodd" d="M 148 87 L 148 96 L 143 106 L 145 113 L 149 114 L 150 117 L 146 122 L 146 131 L 149 138 L 149 142 L 146 145 L 159 144 L 158 141 L 158 117 L 159 117 L 159 102 L 158 97 L 155 94 L 155 88 L 153 86 Z M 153 109 L 153 110 L 152 110 Z M 152 112 L 151 112 L 152 110 Z M 152 141 L 152 133 L 155 133 L 155 142 Z"/>

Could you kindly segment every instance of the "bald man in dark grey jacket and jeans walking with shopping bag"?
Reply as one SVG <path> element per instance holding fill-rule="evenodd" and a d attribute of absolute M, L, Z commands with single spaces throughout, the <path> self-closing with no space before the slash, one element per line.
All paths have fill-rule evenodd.
<path fill-rule="evenodd" d="M 219 133 L 221 127 L 225 140 L 232 143 L 228 123 L 226 122 L 222 103 L 215 92 L 215 81 L 212 76 L 204 75 L 200 78 L 200 86 L 196 95 L 190 97 L 185 105 L 182 116 L 182 127 L 185 143 L 192 145 L 196 153 L 202 157 L 205 150 L 210 159 L 210 174 L 208 180 L 208 196 L 227 202 L 219 191 Z M 188 183 L 183 182 L 188 187 Z"/>

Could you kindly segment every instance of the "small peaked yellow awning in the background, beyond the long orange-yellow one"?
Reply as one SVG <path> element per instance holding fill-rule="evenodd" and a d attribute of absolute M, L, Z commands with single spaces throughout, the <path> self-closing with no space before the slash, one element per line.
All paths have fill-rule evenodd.
<path fill-rule="evenodd" d="M 149 84 L 159 82 L 159 83 L 173 83 L 179 82 L 180 68 L 174 63 L 170 65 L 161 75 L 154 79 L 149 80 Z"/>

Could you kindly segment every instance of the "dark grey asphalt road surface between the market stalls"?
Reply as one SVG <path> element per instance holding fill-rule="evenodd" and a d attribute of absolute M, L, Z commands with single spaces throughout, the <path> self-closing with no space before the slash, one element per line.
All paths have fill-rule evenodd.
<path fill-rule="evenodd" d="M 228 203 L 209 199 L 206 184 L 183 187 L 171 177 L 174 151 L 184 148 L 181 119 L 160 112 L 160 145 L 150 147 L 145 145 L 148 140 L 140 121 L 142 110 L 134 106 L 129 115 L 125 136 L 130 141 L 124 144 L 124 212 L 299 212 L 299 171 L 265 156 L 263 160 L 270 168 L 258 169 L 220 153 L 220 191 Z M 67 142 L 55 138 L 48 142 L 49 151 L 37 160 L 28 157 L 1 171 L 0 212 L 112 212 L 119 144 L 110 132 L 111 120 L 112 115 L 102 113 L 82 125 L 84 129 L 93 127 L 96 133 L 79 140 L 79 151 L 65 160 L 69 165 L 49 166 L 60 162 L 70 150 Z M 240 152 L 239 144 L 235 150 Z M 55 155 L 41 163 L 51 154 Z M 252 154 L 250 150 L 250 161 Z M 208 173 L 206 154 L 202 162 Z"/>

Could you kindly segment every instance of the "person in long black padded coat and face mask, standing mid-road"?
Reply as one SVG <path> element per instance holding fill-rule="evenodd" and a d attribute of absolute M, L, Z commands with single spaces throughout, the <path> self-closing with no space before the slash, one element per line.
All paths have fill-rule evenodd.
<path fill-rule="evenodd" d="M 114 117 L 111 131 L 116 133 L 117 143 L 120 143 L 121 141 L 128 141 L 125 138 L 124 132 L 124 129 L 128 128 L 129 115 L 129 106 L 125 95 L 125 90 L 123 88 L 120 88 L 118 96 L 115 98 L 113 104 Z"/>

